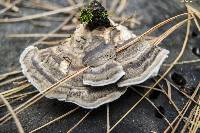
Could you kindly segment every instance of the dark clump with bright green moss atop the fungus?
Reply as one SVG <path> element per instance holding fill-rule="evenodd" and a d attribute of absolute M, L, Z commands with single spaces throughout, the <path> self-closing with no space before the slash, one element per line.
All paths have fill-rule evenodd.
<path fill-rule="evenodd" d="M 106 9 L 96 0 L 90 2 L 89 6 L 81 10 L 80 21 L 86 23 L 89 30 L 111 26 Z"/>

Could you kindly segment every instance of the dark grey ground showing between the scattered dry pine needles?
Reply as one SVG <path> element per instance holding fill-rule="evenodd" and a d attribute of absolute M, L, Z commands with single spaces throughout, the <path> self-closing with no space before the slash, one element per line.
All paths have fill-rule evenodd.
<path fill-rule="evenodd" d="M 53 1 L 53 0 L 51 0 Z M 54 2 L 62 3 L 67 5 L 64 0 L 54 0 Z M 34 14 L 38 10 L 21 8 L 23 15 Z M 126 14 L 131 15 L 132 13 L 142 16 L 141 25 L 137 26 L 133 31 L 136 34 L 141 34 L 145 30 L 154 26 L 158 22 L 165 20 L 171 16 L 186 12 L 185 7 L 175 0 L 129 0 L 129 5 Z M 176 21 L 178 22 L 178 21 Z M 0 24 L 0 74 L 10 72 L 13 70 L 20 70 L 19 56 L 20 53 L 28 45 L 31 45 L 37 39 L 29 38 L 5 38 L 6 34 L 11 33 L 47 33 L 51 29 L 54 29 L 60 22 L 51 23 L 50 28 L 36 27 L 30 22 L 19 22 L 19 23 L 5 23 Z M 165 29 L 169 28 L 170 25 L 160 29 L 155 33 L 159 35 Z M 170 56 L 166 63 L 171 62 L 179 54 L 184 36 L 186 32 L 186 26 L 183 26 L 176 32 L 174 32 L 168 39 L 166 39 L 160 46 L 165 47 L 170 51 Z M 194 60 L 200 58 L 198 49 L 200 49 L 200 34 L 193 24 L 190 32 L 190 41 L 187 49 L 181 60 Z M 195 52 L 196 51 L 196 52 Z M 162 68 L 160 74 L 166 70 Z M 171 75 L 175 78 L 172 80 Z M 176 65 L 168 75 L 168 79 L 173 83 L 176 82 L 177 75 L 180 74 L 181 78 L 186 80 L 186 87 L 189 90 L 194 89 L 200 81 L 200 63 Z M 172 77 L 173 77 L 172 76 Z M 174 82 L 175 81 L 175 82 Z M 151 80 L 146 83 L 151 82 Z M 175 83 L 178 84 L 178 83 Z M 34 89 L 34 88 L 33 88 Z M 141 88 L 137 88 L 141 90 Z M 155 94 L 155 93 L 154 93 Z M 182 108 L 186 102 L 183 95 L 179 94 L 173 89 L 172 98 L 179 108 Z M 165 116 L 172 121 L 177 113 L 173 107 L 169 104 L 169 101 L 164 95 L 151 95 L 152 101 L 157 105 L 161 106 L 165 110 Z M 119 120 L 119 118 L 139 100 L 140 96 L 134 93 L 132 90 L 128 90 L 125 95 L 120 99 L 110 104 L 110 120 L 111 126 Z M 15 105 L 13 105 L 15 106 Z M 51 100 L 47 98 L 41 99 L 39 102 L 29 107 L 18 116 L 26 132 L 47 123 L 48 121 L 56 118 L 57 116 L 64 114 L 68 110 L 76 107 L 74 104 L 60 102 L 57 100 Z M 0 116 L 5 113 L 6 109 L 0 110 Z M 40 133 L 58 133 L 66 132 L 88 110 L 80 109 L 72 115 L 65 117 L 64 119 L 56 122 L 38 132 Z M 3 113 L 4 112 L 4 113 Z M 147 101 L 143 100 L 114 130 L 113 132 L 125 132 L 125 133 L 147 133 L 151 131 L 162 132 L 167 127 L 166 122 L 162 118 L 158 118 L 155 115 L 155 109 Z M 16 126 L 13 121 L 0 126 L 1 133 L 15 133 L 17 132 Z M 102 133 L 106 132 L 106 106 L 102 106 L 95 109 L 89 117 L 77 128 L 74 132 L 76 133 Z"/>

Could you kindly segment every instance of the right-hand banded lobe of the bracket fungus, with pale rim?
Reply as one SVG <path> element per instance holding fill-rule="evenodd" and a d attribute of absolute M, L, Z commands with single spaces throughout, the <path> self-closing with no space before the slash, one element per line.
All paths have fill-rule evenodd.
<path fill-rule="evenodd" d="M 148 41 L 139 42 L 123 50 L 117 54 L 117 61 L 121 63 L 126 74 L 118 86 L 140 84 L 156 76 L 168 53 L 168 50 L 151 45 Z"/>

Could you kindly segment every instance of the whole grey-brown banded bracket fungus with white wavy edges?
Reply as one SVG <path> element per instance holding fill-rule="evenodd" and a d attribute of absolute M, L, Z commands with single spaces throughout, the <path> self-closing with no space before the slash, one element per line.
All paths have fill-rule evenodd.
<path fill-rule="evenodd" d="M 73 102 L 84 108 L 97 108 L 118 99 L 128 86 L 157 75 L 168 57 L 168 50 L 143 40 L 116 52 L 116 48 L 136 36 L 112 20 L 108 19 L 110 26 L 99 24 L 99 20 L 102 23 L 101 19 L 92 19 L 91 23 L 96 23 L 91 29 L 88 29 L 88 23 L 78 25 L 70 40 L 58 46 L 45 49 L 29 46 L 21 54 L 22 71 L 40 92 L 89 66 L 82 74 L 47 93 L 46 97 Z"/>

